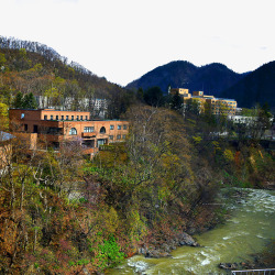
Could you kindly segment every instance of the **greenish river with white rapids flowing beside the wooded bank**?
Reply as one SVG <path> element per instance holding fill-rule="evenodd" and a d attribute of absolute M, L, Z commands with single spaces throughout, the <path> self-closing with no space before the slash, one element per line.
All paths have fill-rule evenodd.
<path fill-rule="evenodd" d="M 165 258 L 136 255 L 108 274 L 227 274 L 219 263 L 252 260 L 251 254 L 261 252 L 275 238 L 275 191 L 242 191 L 246 195 L 238 202 L 224 199 L 231 212 L 224 224 L 194 235 L 200 248 L 183 246 Z"/>

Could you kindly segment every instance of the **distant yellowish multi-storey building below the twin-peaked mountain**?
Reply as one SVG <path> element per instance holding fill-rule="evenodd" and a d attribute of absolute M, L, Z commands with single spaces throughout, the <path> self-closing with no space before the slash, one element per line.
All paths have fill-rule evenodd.
<path fill-rule="evenodd" d="M 188 89 L 184 88 L 173 88 L 169 90 L 170 95 L 175 95 L 176 92 L 183 97 L 185 105 L 188 100 L 193 100 L 199 103 L 201 110 L 207 103 L 213 114 L 235 114 L 237 101 L 234 99 L 216 98 L 213 96 L 205 95 L 204 91 L 194 91 L 191 95 Z"/>

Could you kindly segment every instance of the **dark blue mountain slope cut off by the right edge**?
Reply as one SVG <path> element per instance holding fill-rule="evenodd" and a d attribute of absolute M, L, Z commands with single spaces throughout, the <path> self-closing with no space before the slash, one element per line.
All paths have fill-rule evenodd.
<path fill-rule="evenodd" d="M 275 61 L 246 75 L 221 96 L 234 98 L 240 107 L 252 108 L 267 102 L 275 110 Z"/>

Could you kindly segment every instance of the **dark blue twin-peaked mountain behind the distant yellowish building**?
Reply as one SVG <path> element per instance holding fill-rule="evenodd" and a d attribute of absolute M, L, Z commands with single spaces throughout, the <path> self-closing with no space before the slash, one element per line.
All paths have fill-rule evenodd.
<path fill-rule="evenodd" d="M 168 86 L 172 88 L 188 88 L 190 91 L 204 90 L 207 95 L 219 96 L 221 91 L 228 89 L 245 74 L 237 74 L 227 66 L 212 63 L 197 67 L 191 63 L 177 61 L 160 66 L 141 78 L 127 85 L 129 89 L 158 86 L 164 92 Z"/>

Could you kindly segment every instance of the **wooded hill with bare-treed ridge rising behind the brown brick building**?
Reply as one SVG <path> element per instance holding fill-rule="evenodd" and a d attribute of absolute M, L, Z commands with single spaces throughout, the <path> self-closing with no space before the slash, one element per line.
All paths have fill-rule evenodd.
<path fill-rule="evenodd" d="M 9 107 L 19 91 L 48 97 L 52 106 L 61 106 L 69 97 L 73 109 L 78 110 L 85 108 L 79 103 L 84 98 L 105 98 L 110 102 L 108 118 L 118 118 L 133 100 L 122 87 L 77 63 L 68 64 L 66 57 L 36 42 L 0 36 L 0 68 L 1 102 Z"/>

